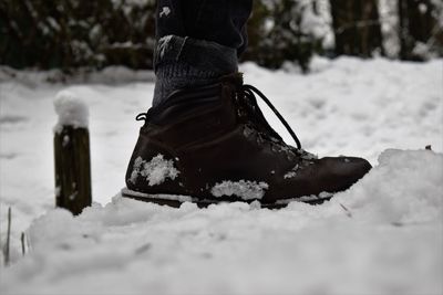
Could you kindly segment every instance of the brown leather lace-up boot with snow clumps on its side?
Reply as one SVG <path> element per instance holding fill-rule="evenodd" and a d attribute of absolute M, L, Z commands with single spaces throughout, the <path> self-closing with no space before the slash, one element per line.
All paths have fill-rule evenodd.
<path fill-rule="evenodd" d="M 297 143 L 284 143 L 260 112 L 258 94 Z M 371 165 L 361 158 L 318 159 L 270 102 L 240 74 L 219 83 L 175 92 L 137 119 L 145 124 L 131 157 L 122 194 L 177 207 L 220 201 L 260 201 L 278 208 L 289 201 L 319 203 L 351 187 Z"/>

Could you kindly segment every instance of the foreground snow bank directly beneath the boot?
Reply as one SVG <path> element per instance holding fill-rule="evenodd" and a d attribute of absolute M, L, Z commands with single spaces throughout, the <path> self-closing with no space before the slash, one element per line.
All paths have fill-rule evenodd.
<path fill-rule="evenodd" d="M 321 206 L 51 210 L 2 294 L 441 294 L 443 155 L 387 150 Z"/>

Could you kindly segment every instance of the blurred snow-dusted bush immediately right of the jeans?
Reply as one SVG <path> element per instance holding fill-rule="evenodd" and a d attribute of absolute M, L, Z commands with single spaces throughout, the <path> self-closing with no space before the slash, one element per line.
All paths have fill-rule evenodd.
<path fill-rule="evenodd" d="M 308 71 L 313 53 L 322 52 L 328 23 L 317 11 L 316 1 L 255 1 L 248 22 L 249 46 L 244 60 L 277 69 L 297 61 Z"/>

